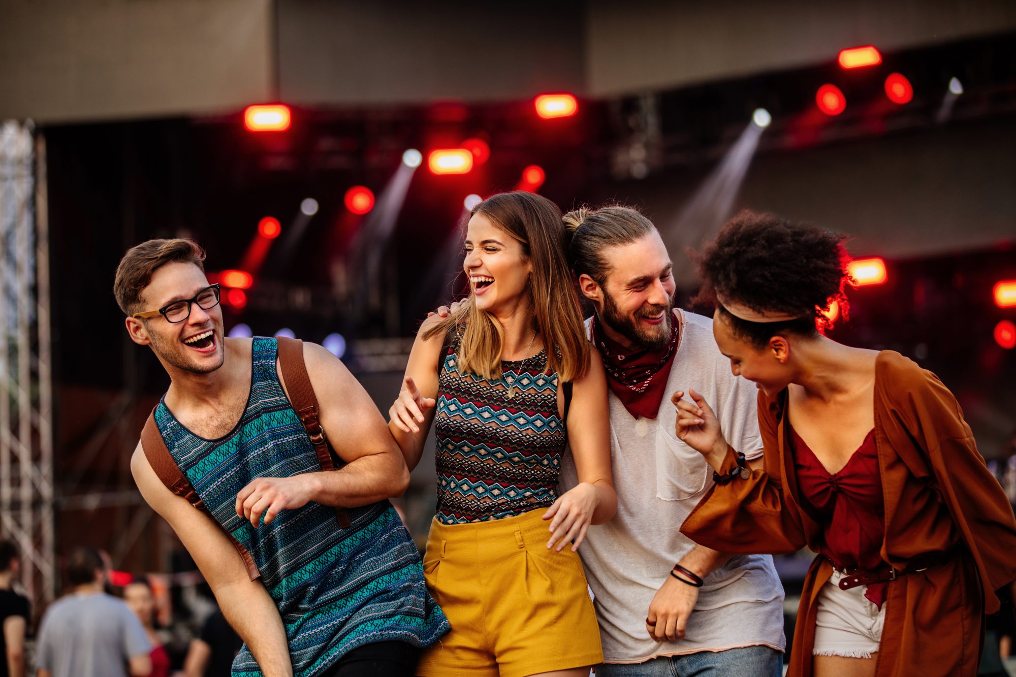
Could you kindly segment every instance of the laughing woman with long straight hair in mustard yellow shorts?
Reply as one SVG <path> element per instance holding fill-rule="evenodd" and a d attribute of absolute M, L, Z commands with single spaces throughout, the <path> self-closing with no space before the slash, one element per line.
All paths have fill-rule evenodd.
<path fill-rule="evenodd" d="M 602 661 L 577 550 L 617 508 L 602 364 L 585 338 L 550 200 L 501 193 L 472 209 L 471 293 L 429 318 L 388 428 L 416 467 L 436 428 L 437 515 L 424 570 L 452 630 L 434 677 L 588 675 Z M 559 495 L 571 449 L 579 483 Z"/>

